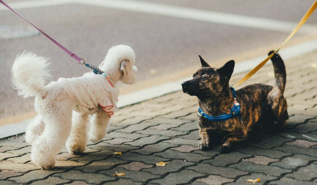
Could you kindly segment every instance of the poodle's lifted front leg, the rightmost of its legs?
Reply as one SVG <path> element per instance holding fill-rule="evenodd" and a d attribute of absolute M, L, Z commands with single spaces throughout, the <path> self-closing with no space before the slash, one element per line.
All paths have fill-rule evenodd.
<path fill-rule="evenodd" d="M 110 125 L 109 114 L 103 110 L 99 110 L 97 114 L 91 117 L 89 139 L 94 143 L 99 142 L 108 132 Z"/>

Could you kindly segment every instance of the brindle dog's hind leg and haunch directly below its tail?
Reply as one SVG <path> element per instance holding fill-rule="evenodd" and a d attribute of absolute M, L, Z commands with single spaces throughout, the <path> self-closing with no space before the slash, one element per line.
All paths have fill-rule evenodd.
<path fill-rule="evenodd" d="M 287 125 L 288 119 L 287 102 L 280 89 L 273 87 L 268 93 L 268 104 L 271 108 L 272 114 L 277 121 L 280 128 Z"/>

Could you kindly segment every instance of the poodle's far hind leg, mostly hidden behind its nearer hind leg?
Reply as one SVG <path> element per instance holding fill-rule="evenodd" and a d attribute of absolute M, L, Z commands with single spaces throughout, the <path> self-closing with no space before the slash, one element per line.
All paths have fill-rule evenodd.
<path fill-rule="evenodd" d="M 40 114 L 29 123 L 28 128 L 25 131 L 25 140 L 29 144 L 32 144 L 44 131 L 43 118 Z"/>

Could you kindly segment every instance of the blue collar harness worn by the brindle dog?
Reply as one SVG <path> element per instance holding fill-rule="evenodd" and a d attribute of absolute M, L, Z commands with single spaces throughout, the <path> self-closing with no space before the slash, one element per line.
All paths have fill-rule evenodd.
<path fill-rule="evenodd" d="M 204 113 L 204 111 L 199 107 L 197 110 L 198 117 L 203 116 L 204 118 L 206 118 L 210 121 L 226 121 L 226 120 L 231 119 L 235 116 L 239 116 L 240 120 L 242 120 L 241 116 L 240 116 L 241 107 L 240 107 L 240 104 L 236 101 L 236 91 L 233 87 L 230 87 L 230 89 L 232 90 L 234 99 L 233 99 L 233 107 L 230 110 L 229 114 L 223 113 L 219 116 L 209 116 L 208 114 Z"/>

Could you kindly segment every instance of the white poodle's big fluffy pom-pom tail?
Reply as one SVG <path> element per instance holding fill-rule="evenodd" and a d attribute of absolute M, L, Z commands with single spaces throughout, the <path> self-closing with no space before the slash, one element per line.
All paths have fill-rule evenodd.
<path fill-rule="evenodd" d="M 12 83 L 18 89 L 18 95 L 24 98 L 44 94 L 45 80 L 49 74 L 47 58 L 31 52 L 17 55 L 12 66 Z"/>

